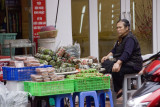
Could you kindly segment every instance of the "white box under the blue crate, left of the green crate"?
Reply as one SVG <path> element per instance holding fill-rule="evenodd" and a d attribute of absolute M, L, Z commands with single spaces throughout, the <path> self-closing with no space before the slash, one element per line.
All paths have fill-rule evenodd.
<path fill-rule="evenodd" d="M 8 91 L 24 91 L 23 81 L 7 81 L 6 88 Z"/>

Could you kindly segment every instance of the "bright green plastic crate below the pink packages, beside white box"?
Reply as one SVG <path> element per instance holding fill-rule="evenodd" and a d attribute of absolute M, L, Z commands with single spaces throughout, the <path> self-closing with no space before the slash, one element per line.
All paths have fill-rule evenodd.
<path fill-rule="evenodd" d="M 32 96 L 47 96 L 74 92 L 74 80 L 24 82 L 24 90 Z"/>

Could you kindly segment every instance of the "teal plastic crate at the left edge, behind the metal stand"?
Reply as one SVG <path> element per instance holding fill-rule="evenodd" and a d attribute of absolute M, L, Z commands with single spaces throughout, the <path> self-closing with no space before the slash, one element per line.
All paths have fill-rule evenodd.
<path fill-rule="evenodd" d="M 5 40 L 15 40 L 17 33 L 0 33 L 0 43 L 3 45 Z M 10 56 L 9 48 L 2 48 L 2 55 Z M 15 48 L 12 48 L 12 55 L 15 55 Z"/>

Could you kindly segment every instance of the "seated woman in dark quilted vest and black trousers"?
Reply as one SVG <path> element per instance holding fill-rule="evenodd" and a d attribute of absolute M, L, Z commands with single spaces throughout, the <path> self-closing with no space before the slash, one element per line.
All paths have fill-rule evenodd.
<path fill-rule="evenodd" d="M 114 91 L 117 98 L 122 95 L 125 74 L 138 73 L 142 69 L 139 43 L 130 31 L 127 19 L 117 22 L 118 40 L 111 52 L 101 59 L 102 67 L 112 74 Z"/>

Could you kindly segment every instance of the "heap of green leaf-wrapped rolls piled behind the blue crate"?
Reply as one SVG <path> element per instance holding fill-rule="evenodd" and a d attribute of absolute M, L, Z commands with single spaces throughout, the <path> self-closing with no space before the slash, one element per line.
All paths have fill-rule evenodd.
<path fill-rule="evenodd" d="M 73 62 L 75 57 L 66 53 L 65 47 L 60 47 L 57 52 L 39 47 L 35 57 L 39 59 L 41 64 L 52 65 L 56 68 L 56 72 L 75 71 L 75 64 Z"/>

